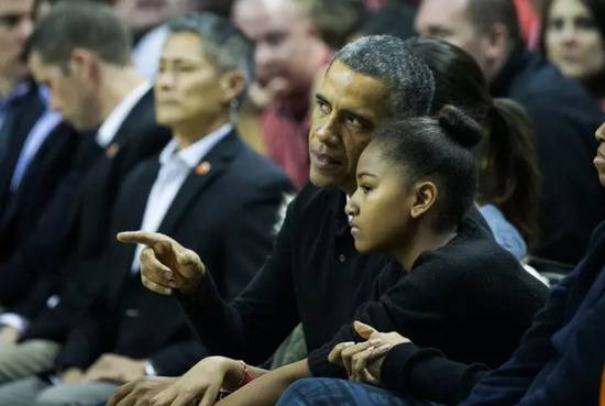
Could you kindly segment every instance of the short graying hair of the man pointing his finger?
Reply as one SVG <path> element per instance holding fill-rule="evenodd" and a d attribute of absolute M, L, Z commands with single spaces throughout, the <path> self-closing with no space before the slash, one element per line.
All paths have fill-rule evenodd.
<path fill-rule="evenodd" d="M 397 118 L 429 113 L 435 79 L 407 41 L 391 35 L 362 36 L 340 50 L 336 59 L 356 73 L 384 80 L 389 90 L 391 113 Z"/>

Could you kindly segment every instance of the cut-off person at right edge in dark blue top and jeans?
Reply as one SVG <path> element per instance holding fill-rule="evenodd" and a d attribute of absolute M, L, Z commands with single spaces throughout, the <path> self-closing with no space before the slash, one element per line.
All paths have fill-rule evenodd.
<path fill-rule="evenodd" d="M 594 164 L 605 186 L 605 123 L 596 140 Z M 343 398 L 350 405 L 597 406 L 605 367 L 604 249 L 601 223 L 586 257 L 553 288 L 510 360 L 491 373 L 482 365 L 449 361 L 439 350 L 420 349 L 400 333 L 378 333 L 358 323 L 362 337 L 372 342 L 344 350 L 338 345 L 332 356 L 348 364 L 351 377 L 392 392 L 338 380 L 306 380 L 290 386 L 278 406 L 339 405 Z"/>

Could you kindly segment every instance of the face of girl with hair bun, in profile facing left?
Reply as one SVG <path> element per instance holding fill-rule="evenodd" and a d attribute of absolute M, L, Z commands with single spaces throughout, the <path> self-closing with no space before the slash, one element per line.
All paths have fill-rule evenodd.
<path fill-rule="evenodd" d="M 345 208 L 355 249 L 362 253 L 398 251 L 408 240 L 415 201 L 405 168 L 371 143 L 360 156 L 356 178 L 358 188 Z"/>

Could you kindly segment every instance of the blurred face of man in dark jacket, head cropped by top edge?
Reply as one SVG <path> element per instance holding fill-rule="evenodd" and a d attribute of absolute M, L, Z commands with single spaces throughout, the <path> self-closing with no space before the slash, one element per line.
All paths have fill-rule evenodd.
<path fill-rule="evenodd" d="M 420 36 L 437 37 L 466 51 L 490 76 L 488 40 L 479 33 L 466 13 L 468 0 L 422 0 L 415 28 Z"/>

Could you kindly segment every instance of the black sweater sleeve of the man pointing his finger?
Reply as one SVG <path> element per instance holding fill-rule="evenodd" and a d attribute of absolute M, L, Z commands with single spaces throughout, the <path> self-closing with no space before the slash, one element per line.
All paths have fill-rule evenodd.
<path fill-rule="evenodd" d="M 239 297 L 223 300 L 209 274 L 194 295 L 177 294 L 211 353 L 263 362 L 299 321 L 290 264 L 295 205 L 288 208 L 272 254 Z"/>

